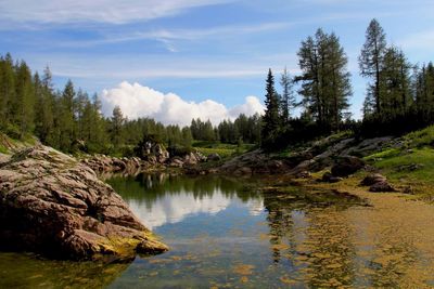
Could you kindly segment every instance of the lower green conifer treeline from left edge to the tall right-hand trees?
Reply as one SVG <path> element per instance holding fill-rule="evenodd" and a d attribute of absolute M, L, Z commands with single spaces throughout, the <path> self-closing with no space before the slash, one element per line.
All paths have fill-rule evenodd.
<path fill-rule="evenodd" d="M 260 121 L 259 115 L 240 115 L 217 127 L 209 120 L 193 119 L 191 126 L 181 128 L 149 118 L 129 120 L 119 107 L 104 117 L 95 94 L 76 90 L 71 80 L 62 91 L 54 90 L 48 67 L 39 76 L 9 53 L 0 57 L 0 131 L 13 139 L 36 135 L 43 144 L 67 153 L 131 155 L 133 147 L 148 139 L 183 148 L 190 148 L 194 140 L 259 143 Z"/>

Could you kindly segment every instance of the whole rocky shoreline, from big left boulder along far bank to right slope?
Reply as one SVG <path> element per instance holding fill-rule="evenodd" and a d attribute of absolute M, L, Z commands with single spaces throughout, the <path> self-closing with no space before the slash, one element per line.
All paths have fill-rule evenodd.
<path fill-rule="evenodd" d="M 218 155 L 199 153 L 169 158 L 158 145 L 150 145 L 140 158 L 94 155 L 77 160 L 36 145 L 0 160 L 0 249 L 75 260 L 124 260 L 168 250 L 100 180 L 103 174 L 175 169 L 187 174 L 281 174 L 312 180 L 314 172 L 330 168 L 312 181 L 336 183 L 365 169 L 369 175 L 360 185 L 370 186 L 371 192 L 396 192 L 359 158 L 391 144 L 399 145 L 391 137 L 324 139 L 285 157 L 253 150 L 226 162 Z"/>

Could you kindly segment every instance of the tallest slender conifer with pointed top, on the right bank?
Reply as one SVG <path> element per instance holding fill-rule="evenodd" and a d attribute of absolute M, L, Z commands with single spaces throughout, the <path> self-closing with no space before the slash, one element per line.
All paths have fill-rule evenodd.
<path fill-rule="evenodd" d="M 386 36 L 380 23 L 372 19 L 366 31 L 366 42 L 359 56 L 360 74 L 367 78 L 373 78 L 373 98 L 375 101 L 375 114 L 381 114 L 381 70 L 386 52 Z"/>

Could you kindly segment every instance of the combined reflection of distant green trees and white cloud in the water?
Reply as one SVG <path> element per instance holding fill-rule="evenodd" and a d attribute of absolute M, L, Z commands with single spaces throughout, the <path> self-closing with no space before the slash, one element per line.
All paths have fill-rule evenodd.
<path fill-rule="evenodd" d="M 260 195 L 243 191 L 241 183 L 229 178 L 141 173 L 112 178 L 108 183 L 151 229 L 181 222 L 189 215 L 216 214 L 227 209 L 234 197 L 245 202 L 252 214 L 264 210 Z"/>

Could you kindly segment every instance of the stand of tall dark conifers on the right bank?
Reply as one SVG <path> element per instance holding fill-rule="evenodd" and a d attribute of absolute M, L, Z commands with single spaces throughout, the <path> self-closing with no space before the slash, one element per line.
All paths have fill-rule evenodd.
<path fill-rule="evenodd" d="M 358 57 L 360 75 L 369 80 L 362 120 L 350 119 L 347 56 L 333 32 L 318 29 L 302 42 L 297 56 L 302 74 L 290 77 L 284 70 L 281 93 L 275 88 L 271 70 L 268 73 L 261 140 L 265 149 L 346 129 L 367 137 L 401 134 L 434 122 L 433 64 L 410 64 L 400 49 L 386 43 L 376 19 L 367 28 Z M 298 117 L 293 117 L 295 108 L 301 109 Z"/>

